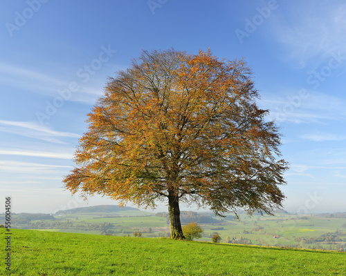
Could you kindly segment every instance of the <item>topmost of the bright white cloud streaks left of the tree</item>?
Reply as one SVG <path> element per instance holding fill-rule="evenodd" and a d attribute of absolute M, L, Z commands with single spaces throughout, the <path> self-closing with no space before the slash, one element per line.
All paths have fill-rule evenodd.
<path fill-rule="evenodd" d="M 0 120 L 0 131 L 14 133 L 25 137 L 40 139 L 57 144 L 64 144 L 58 138 L 79 138 L 80 135 L 72 132 L 61 132 L 52 130 L 48 126 L 42 126 L 32 121 L 4 121 Z"/>

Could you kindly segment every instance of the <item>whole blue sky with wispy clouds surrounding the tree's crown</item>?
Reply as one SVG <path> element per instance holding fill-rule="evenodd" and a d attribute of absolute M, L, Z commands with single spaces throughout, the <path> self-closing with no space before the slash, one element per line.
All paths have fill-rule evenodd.
<path fill-rule="evenodd" d="M 344 1 L 0 4 L 0 206 L 6 195 L 14 212 L 116 204 L 99 196 L 82 201 L 62 188 L 107 77 L 142 49 L 210 48 L 219 58 L 244 57 L 258 104 L 281 127 L 291 164 L 284 208 L 346 211 Z"/>

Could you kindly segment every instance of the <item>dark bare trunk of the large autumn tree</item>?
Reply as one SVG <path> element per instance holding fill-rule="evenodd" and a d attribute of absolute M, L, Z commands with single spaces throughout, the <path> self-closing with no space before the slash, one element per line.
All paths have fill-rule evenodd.
<path fill-rule="evenodd" d="M 179 197 L 174 193 L 169 193 L 168 210 L 170 213 L 170 238 L 185 239 L 180 222 Z"/>

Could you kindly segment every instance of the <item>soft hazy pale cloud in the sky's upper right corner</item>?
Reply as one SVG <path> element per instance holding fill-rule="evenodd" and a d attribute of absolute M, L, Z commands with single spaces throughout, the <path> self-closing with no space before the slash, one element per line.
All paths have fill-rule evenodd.
<path fill-rule="evenodd" d="M 273 18 L 275 38 L 289 48 L 288 60 L 299 61 L 301 68 L 312 58 L 346 52 L 344 1 L 284 1 Z"/>

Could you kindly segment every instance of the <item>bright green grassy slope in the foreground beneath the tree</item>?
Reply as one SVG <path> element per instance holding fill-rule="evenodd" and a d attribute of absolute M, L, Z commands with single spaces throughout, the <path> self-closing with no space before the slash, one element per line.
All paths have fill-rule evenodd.
<path fill-rule="evenodd" d="M 11 248 L 11 275 L 346 275 L 346 253 L 328 251 L 19 229 Z"/>

